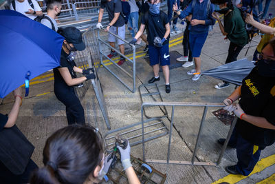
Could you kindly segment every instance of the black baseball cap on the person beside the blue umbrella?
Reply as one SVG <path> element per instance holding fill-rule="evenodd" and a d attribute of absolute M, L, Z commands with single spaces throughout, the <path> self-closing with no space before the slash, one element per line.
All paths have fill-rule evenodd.
<path fill-rule="evenodd" d="M 82 34 L 78 28 L 67 27 L 59 31 L 68 43 L 72 43 L 76 50 L 85 50 L 86 45 L 82 40 Z"/>

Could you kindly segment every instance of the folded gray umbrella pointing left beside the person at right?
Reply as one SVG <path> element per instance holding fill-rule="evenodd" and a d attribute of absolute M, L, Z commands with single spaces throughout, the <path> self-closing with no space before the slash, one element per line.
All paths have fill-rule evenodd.
<path fill-rule="evenodd" d="M 228 81 L 236 85 L 241 85 L 241 81 L 245 76 L 251 72 L 255 67 L 255 61 L 248 61 L 248 59 L 241 59 L 225 65 L 220 65 L 217 68 L 212 68 L 201 72 L 201 74 L 213 76 L 214 78 Z"/>

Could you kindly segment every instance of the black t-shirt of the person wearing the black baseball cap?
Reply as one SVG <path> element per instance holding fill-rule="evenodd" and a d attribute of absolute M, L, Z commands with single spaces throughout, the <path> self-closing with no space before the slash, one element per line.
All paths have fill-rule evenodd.
<path fill-rule="evenodd" d="M 64 81 L 63 76 L 61 76 L 61 73 L 59 72 L 58 68 L 67 67 L 72 78 L 76 78 L 76 72 L 74 72 L 73 70 L 76 63 L 74 63 L 74 61 L 68 61 L 67 56 L 68 54 L 66 54 L 64 50 L 61 50 L 61 65 L 54 68 L 54 86 L 55 87 L 69 88 L 69 85 L 67 85 L 67 83 Z"/>

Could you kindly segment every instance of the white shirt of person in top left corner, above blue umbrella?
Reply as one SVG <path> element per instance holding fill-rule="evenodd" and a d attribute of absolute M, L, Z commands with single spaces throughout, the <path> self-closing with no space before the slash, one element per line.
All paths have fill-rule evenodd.
<path fill-rule="evenodd" d="M 42 11 L 39 3 L 37 3 L 35 0 L 32 0 L 32 3 L 34 4 L 34 9 L 32 8 L 32 6 L 30 6 L 28 0 L 23 1 L 22 3 L 20 3 L 19 1 L 15 0 L 15 9 L 17 12 L 24 14 L 25 16 L 29 17 L 30 19 L 35 19 L 35 17 L 37 17 L 34 14 L 26 14 L 25 12 L 28 12 L 29 9 L 34 10 L 34 11 Z M 10 10 L 14 10 L 12 7 L 12 3 L 10 3 Z"/>

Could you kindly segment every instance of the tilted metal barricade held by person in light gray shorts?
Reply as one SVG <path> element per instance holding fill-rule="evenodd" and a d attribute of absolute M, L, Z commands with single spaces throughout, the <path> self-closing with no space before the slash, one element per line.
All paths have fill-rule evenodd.
<path fill-rule="evenodd" d="M 107 41 L 104 41 L 100 35 L 100 30 L 98 30 L 98 48 L 99 48 L 99 53 L 100 53 L 100 63 L 101 65 L 104 66 L 104 68 L 106 68 L 109 72 L 111 72 L 111 74 L 113 74 L 113 76 L 115 76 L 116 79 L 118 79 L 126 88 L 128 88 L 131 92 L 135 92 L 135 45 L 132 45 L 129 43 L 129 41 L 126 41 L 120 37 L 118 37 L 118 35 L 113 34 L 111 32 L 108 32 L 109 34 L 112 34 L 114 37 L 116 37 L 117 39 L 120 39 L 122 41 L 124 41 L 124 43 L 129 44 L 130 48 L 133 49 L 133 59 L 130 59 L 129 57 L 126 57 L 126 55 L 122 54 L 120 52 L 120 50 L 117 50 L 116 48 L 113 48 L 111 45 L 109 45 L 109 43 L 107 43 Z M 127 72 L 124 68 L 122 68 L 120 65 L 118 65 L 117 63 L 115 63 L 115 61 L 113 61 L 113 59 L 107 57 L 107 55 L 104 53 L 104 51 L 102 50 L 102 45 L 100 45 L 100 43 L 103 43 L 104 45 L 106 45 L 108 48 L 111 48 L 112 50 L 115 50 L 115 52 L 117 52 L 118 54 L 120 54 L 121 57 L 124 57 L 124 59 L 130 61 L 131 63 L 131 68 L 133 69 L 133 74 L 130 74 L 129 72 Z M 121 70 L 122 72 L 124 72 L 124 74 L 128 75 L 129 77 L 131 77 L 133 79 L 133 84 L 132 84 L 132 88 L 126 83 L 124 82 L 120 76 L 116 75 L 111 68 L 109 68 L 107 66 L 106 63 L 103 62 L 102 56 L 105 57 L 106 59 L 108 59 L 109 61 L 111 61 L 111 63 L 113 65 L 115 65 L 119 70 Z"/>

